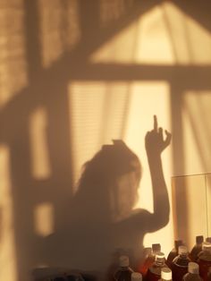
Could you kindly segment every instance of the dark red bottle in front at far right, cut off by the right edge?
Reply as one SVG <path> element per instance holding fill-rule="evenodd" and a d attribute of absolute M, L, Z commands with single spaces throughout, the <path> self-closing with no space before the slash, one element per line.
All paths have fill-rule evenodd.
<path fill-rule="evenodd" d="M 202 251 L 198 253 L 199 274 L 207 281 L 208 270 L 211 267 L 211 243 L 202 243 Z"/>

